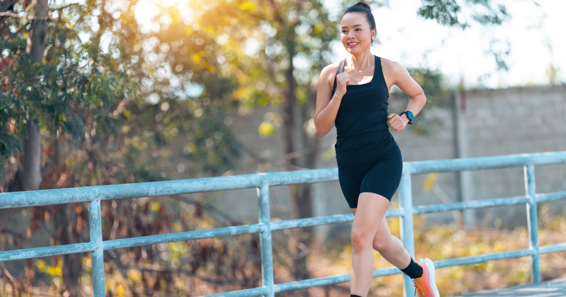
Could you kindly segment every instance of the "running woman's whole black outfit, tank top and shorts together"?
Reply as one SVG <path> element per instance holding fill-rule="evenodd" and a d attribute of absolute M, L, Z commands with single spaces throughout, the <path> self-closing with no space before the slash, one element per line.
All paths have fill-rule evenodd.
<path fill-rule="evenodd" d="M 336 90 L 336 78 L 334 84 Z M 374 77 L 367 84 L 346 85 L 338 108 L 338 181 L 350 208 L 358 207 L 358 196 L 364 192 L 391 201 L 401 181 L 401 151 L 387 123 L 388 98 L 381 58 L 375 56 Z"/>

